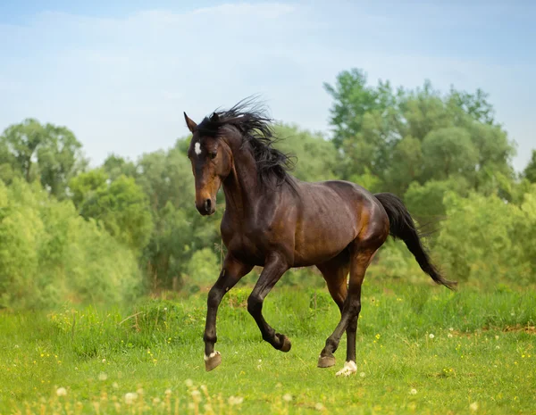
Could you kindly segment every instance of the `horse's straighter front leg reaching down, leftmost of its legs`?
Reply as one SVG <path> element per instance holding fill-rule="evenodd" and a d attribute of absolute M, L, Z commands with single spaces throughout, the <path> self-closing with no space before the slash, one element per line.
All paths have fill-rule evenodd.
<path fill-rule="evenodd" d="M 244 277 L 253 267 L 233 258 L 229 253 L 223 261 L 220 277 L 210 289 L 206 300 L 205 334 L 205 369 L 214 369 L 222 362 L 220 352 L 214 351 L 214 344 L 218 340 L 216 336 L 216 314 L 222 302 L 223 295 L 235 286 L 239 279 Z"/>

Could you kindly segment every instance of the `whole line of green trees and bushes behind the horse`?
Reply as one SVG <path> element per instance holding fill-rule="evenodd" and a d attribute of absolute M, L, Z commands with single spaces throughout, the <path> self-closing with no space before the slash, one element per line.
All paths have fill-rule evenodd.
<path fill-rule="evenodd" d="M 516 174 L 515 143 L 488 95 L 429 81 L 374 86 L 356 69 L 324 87 L 331 139 L 275 126 L 281 150 L 297 155 L 297 178 L 350 180 L 399 195 L 419 223 L 442 219 L 431 248 L 451 279 L 536 282 L 536 151 Z M 119 301 L 214 281 L 223 209 L 208 218 L 195 209 L 189 138 L 90 169 L 67 127 L 27 119 L 4 129 L 0 306 Z M 379 263 L 392 277 L 415 265 L 392 243 Z"/>

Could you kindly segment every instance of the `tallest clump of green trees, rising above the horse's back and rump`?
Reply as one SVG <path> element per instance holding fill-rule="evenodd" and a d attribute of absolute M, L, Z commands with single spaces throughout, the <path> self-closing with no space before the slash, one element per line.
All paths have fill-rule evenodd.
<path fill-rule="evenodd" d="M 368 86 L 363 71 L 341 72 L 333 97 L 331 126 L 339 149 L 341 178 L 375 178 L 377 186 L 402 195 L 412 181 L 465 177 L 489 192 L 503 178 L 514 180 L 513 143 L 493 118 L 488 95 L 452 87 L 443 95 L 430 81 L 415 90 L 379 81 Z"/>

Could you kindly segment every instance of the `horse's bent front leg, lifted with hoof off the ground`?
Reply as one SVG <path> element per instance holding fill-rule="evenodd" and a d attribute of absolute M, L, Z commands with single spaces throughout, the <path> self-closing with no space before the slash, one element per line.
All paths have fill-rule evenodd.
<path fill-rule="evenodd" d="M 266 295 L 270 293 L 273 286 L 275 286 L 286 270 L 289 270 L 287 261 L 285 261 L 281 255 L 273 254 L 265 262 L 264 270 L 256 282 L 255 288 L 247 298 L 247 311 L 249 311 L 255 319 L 257 326 L 261 330 L 263 339 L 272 344 L 275 349 L 281 350 L 281 352 L 289 352 L 289 338 L 280 333 L 276 333 L 266 320 L 264 320 L 263 302 Z"/>

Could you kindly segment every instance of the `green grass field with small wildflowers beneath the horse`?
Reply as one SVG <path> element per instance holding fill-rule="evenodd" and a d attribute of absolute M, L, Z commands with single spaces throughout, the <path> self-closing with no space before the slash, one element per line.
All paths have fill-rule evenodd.
<path fill-rule="evenodd" d="M 365 284 L 357 373 L 317 369 L 339 311 L 322 289 L 276 287 L 265 344 L 249 290 L 218 316 L 222 365 L 205 372 L 205 294 L 128 308 L 0 312 L 0 414 L 536 413 L 536 294 Z"/>

